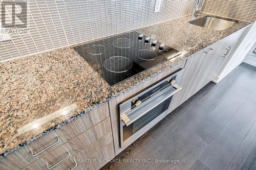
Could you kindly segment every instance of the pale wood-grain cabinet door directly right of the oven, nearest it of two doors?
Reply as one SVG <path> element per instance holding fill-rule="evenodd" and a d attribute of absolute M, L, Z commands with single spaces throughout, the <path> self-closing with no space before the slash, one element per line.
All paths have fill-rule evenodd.
<path fill-rule="evenodd" d="M 180 104 L 194 95 L 212 79 L 212 63 L 214 62 L 214 46 L 209 46 L 204 51 L 187 59 L 184 72 L 179 85 L 182 89 L 174 95 L 169 111 L 173 111 Z"/>

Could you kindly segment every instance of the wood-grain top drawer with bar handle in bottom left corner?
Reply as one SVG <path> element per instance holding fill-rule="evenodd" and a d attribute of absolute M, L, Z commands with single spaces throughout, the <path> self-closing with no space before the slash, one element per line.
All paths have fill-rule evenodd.
<path fill-rule="evenodd" d="M 30 144 L 20 147 L 13 153 L 0 159 L 1 169 L 21 169 L 37 159 L 49 154 L 62 145 L 57 133 L 52 131 L 35 139 Z"/>

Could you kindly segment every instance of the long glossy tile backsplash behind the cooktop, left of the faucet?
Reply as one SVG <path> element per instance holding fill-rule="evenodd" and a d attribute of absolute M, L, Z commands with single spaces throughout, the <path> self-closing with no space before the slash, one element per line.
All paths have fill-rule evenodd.
<path fill-rule="evenodd" d="M 0 44 L 2 61 L 152 25 L 191 13 L 195 0 L 29 0 L 27 34 Z"/>

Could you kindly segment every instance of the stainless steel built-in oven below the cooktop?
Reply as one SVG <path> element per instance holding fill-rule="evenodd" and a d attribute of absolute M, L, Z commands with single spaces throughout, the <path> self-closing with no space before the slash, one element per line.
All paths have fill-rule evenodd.
<path fill-rule="evenodd" d="M 183 69 L 154 83 L 119 104 L 120 144 L 126 148 L 167 115 L 173 95 L 181 90 L 177 84 Z"/>

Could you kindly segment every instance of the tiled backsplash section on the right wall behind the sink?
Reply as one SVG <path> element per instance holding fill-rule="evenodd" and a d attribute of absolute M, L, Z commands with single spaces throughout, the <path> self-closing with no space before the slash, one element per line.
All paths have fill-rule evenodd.
<path fill-rule="evenodd" d="M 204 0 L 201 12 L 253 22 L 256 0 Z"/>

